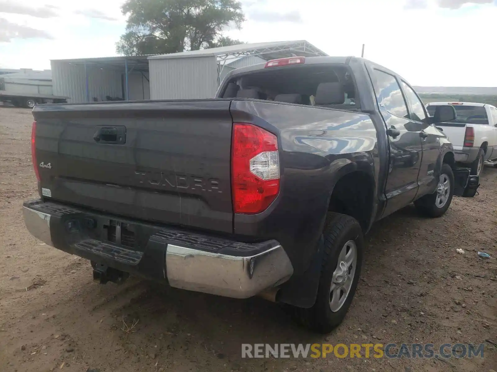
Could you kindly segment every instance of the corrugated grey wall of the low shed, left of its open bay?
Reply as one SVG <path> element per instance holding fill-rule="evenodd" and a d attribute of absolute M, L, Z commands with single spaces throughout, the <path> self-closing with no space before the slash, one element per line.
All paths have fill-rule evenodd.
<path fill-rule="evenodd" d="M 62 61 L 52 61 L 51 65 L 54 95 L 70 97 L 69 102 L 71 103 L 88 102 L 84 65 Z M 93 97 L 99 101 L 105 100 L 105 96 L 124 98 L 121 71 L 86 65 L 86 73 L 90 101 L 93 100 Z"/>

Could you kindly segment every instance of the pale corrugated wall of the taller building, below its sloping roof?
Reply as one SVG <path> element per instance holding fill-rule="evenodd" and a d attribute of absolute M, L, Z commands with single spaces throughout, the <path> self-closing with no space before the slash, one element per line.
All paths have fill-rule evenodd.
<path fill-rule="evenodd" d="M 214 56 L 149 60 L 151 99 L 213 98 L 216 63 Z"/>

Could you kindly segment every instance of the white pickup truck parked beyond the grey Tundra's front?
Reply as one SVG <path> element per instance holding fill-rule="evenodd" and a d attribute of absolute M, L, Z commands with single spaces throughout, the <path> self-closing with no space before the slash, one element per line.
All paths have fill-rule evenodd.
<path fill-rule="evenodd" d="M 430 102 L 428 114 L 433 116 L 440 105 L 456 110 L 455 120 L 437 124 L 454 145 L 456 162 L 471 167 L 471 174 L 477 176 L 485 162 L 497 167 L 497 108 L 484 103 Z"/>

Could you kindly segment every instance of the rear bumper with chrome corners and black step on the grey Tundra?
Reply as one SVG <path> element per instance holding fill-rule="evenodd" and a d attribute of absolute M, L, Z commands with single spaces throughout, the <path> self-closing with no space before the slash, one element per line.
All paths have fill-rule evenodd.
<path fill-rule="evenodd" d="M 98 218 L 108 216 L 41 201 L 24 203 L 22 212 L 29 233 L 49 246 L 145 277 L 150 277 L 150 272 L 161 273 L 162 278 L 154 279 L 167 280 L 175 288 L 248 298 L 284 283 L 293 274 L 290 259 L 276 241 L 251 245 L 198 234 L 191 234 L 182 241 L 172 241 L 174 238 L 170 238 L 169 231 L 157 228 L 142 252 L 90 239 L 84 227 L 77 232 L 75 240 L 75 235 L 70 236 L 62 222 L 87 217 L 98 221 Z M 208 241 L 211 248 L 236 246 L 237 255 L 216 253 L 209 251 L 208 247 L 204 250 L 203 241 Z M 188 244 L 191 242 L 194 243 Z M 157 257 L 164 259 L 158 260 Z"/>

